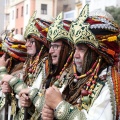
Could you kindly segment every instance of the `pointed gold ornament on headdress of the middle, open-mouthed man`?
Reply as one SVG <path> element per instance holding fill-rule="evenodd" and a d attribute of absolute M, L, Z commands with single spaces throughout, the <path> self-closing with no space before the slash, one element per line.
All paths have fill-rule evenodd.
<path fill-rule="evenodd" d="M 47 39 L 51 42 L 58 40 L 59 38 L 68 39 L 68 31 L 63 27 L 63 13 L 60 13 L 55 19 L 54 23 L 48 29 Z"/>

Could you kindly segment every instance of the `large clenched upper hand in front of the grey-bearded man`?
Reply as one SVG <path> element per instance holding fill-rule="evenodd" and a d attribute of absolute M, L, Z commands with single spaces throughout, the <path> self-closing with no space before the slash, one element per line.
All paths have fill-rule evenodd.
<path fill-rule="evenodd" d="M 55 109 L 62 100 L 62 94 L 57 87 L 52 86 L 46 90 L 45 104 L 48 105 L 51 109 Z"/>

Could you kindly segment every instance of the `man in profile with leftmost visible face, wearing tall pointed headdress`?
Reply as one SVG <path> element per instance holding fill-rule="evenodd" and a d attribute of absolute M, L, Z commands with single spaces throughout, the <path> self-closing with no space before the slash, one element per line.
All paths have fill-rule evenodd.
<path fill-rule="evenodd" d="M 27 48 L 28 58 L 23 66 L 22 78 L 6 75 L 2 80 L 8 82 L 12 90 L 17 94 L 20 92 L 20 90 L 27 87 L 35 87 L 39 89 L 41 80 L 46 76 L 48 70 L 48 42 L 46 41 L 46 35 L 47 27 L 51 24 L 51 22 L 42 19 L 35 19 L 35 15 L 36 13 L 34 13 L 30 18 L 24 34 L 24 37 L 26 39 L 25 45 Z M 19 100 L 23 99 L 23 96 L 19 98 Z M 31 105 L 29 99 L 26 101 L 27 102 L 25 103 L 26 105 L 24 107 L 30 107 L 28 109 L 28 119 L 36 119 L 39 115 L 35 113 L 35 115 L 32 116 L 34 113 L 34 107 Z M 24 110 L 20 109 L 18 111 L 17 109 L 19 108 L 15 109 L 16 111 L 14 111 L 13 119 L 23 120 Z"/>

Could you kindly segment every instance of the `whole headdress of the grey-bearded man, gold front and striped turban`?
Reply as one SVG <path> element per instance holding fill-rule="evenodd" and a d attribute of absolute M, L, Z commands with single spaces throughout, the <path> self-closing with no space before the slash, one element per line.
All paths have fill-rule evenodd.
<path fill-rule="evenodd" d="M 110 64 L 118 61 L 119 28 L 109 13 L 96 10 L 89 15 L 89 6 L 86 5 L 77 20 L 72 22 L 69 33 L 74 44 L 87 44 Z"/>

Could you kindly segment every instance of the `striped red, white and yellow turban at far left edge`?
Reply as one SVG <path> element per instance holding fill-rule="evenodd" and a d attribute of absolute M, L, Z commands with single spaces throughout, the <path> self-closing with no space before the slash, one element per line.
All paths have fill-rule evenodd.
<path fill-rule="evenodd" d="M 16 60 L 25 61 L 25 40 L 21 34 L 13 35 L 13 31 L 2 34 L 2 50 Z"/>

